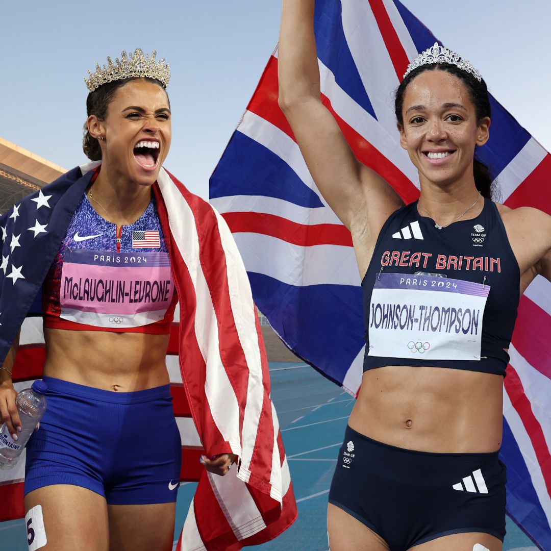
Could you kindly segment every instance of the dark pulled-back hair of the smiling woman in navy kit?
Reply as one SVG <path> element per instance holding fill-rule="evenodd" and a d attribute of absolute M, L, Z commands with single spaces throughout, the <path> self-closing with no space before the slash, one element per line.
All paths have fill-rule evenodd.
<path fill-rule="evenodd" d="M 477 120 L 482 120 L 484 117 L 491 117 L 491 106 L 490 98 L 488 96 L 488 87 L 484 80 L 477 80 L 474 75 L 463 71 L 456 65 L 450 63 L 430 63 L 427 65 L 422 65 L 417 69 L 413 69 L 412 72 L 408 73 L 407 77 L 402 80 L 399 87 L 396 90 L 395 96 L 395 114 L 398 124 L 403 127 L 404 120 L 402 116 L 402 107 L 404 104 L 404 95 L 406 94 L 406 88 L 412 80 L 417 77 L 417 75 L 425 71 L 446 71 L 455 75 L 457 78 L 461 79 L 463 84 L 467 87 L 469 95 L 471 96 L 471 101 L 473 102 L 474 109 L 477 114 Z M 474 153 L 474 184 L 477 187 L 477 190 L 480 192 L 480 195 L 488 199 L 492 198 L 493 194 L 493 180 L 490 174 L 488 167 L 477 159 L 476 152 Z"/>

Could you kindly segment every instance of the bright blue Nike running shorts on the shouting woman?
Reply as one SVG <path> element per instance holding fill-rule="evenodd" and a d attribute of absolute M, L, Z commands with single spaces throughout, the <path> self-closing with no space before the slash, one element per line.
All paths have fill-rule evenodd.
<path fill-rule="evenodd" d="M 111 392 L 44 381 L 47 409 L 27 445 L 25 494 L 72 484 L 111 505 L 176 501 L 182 447 L 169 385 Z"/>

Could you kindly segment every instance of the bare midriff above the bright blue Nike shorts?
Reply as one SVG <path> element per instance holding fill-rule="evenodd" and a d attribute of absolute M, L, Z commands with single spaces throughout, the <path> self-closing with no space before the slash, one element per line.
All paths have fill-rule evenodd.
<path fill-rule="evenodd" d="M 44 329 L 44 375 L 114 392 L 167 385 L 168 334 Z"/>

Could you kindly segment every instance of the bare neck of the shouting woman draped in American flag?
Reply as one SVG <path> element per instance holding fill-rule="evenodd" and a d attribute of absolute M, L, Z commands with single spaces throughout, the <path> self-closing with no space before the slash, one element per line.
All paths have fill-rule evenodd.
<path fill-rule="evenodd" d="M 110 174 L 102 166 L 88 197 L 102 218 L 121 226 L 133 224 L 141 217 L 151 201 L 151 194 L 151 186 L 142 186 L 121 175 Z"/>

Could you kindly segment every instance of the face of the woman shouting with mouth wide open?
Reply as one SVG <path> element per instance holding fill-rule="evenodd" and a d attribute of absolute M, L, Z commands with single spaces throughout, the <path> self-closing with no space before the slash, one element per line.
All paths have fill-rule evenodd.
<path fill-rule="evenodd" d="M 145 79 L 118 88 L 104 121 L 88 117 L 93 136 L 102 136 L 102 170 L 116 178 L 152 185 L 170 149 L 169 99 L 165 90 Z"/>

